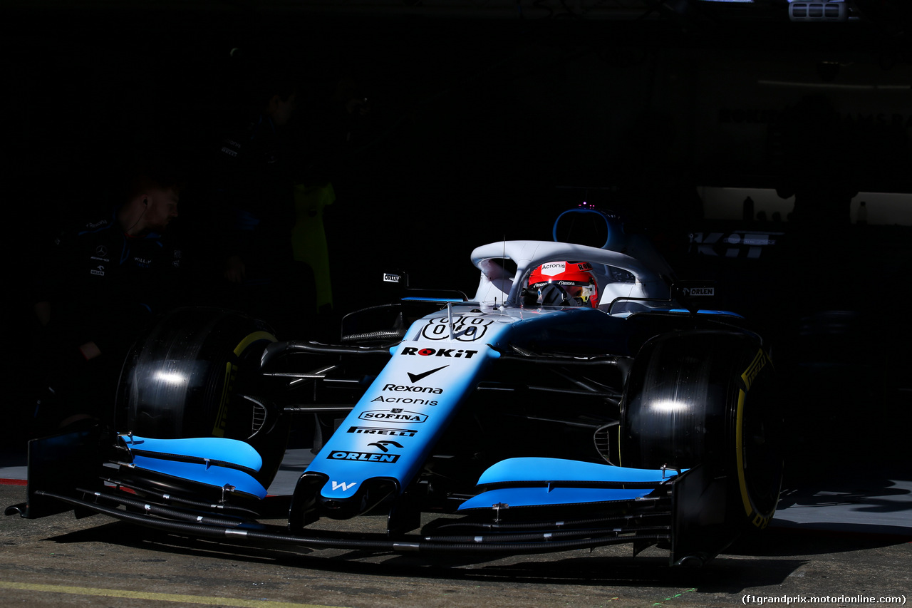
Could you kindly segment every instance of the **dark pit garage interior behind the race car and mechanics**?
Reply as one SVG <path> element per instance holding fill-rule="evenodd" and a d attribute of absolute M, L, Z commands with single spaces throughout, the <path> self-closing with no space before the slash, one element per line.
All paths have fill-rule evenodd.
<path fill-rule="evenodd" d="M 382 299 L 387 268 L 471 292 L 472 247 L 610 209 L 767 326 L 789 403 L 779 525 L 912 530 L 905 0 L 12 0 L 0 17 L 4 200 L 26 244 L 9 250 L 10 344 L 29 344 L 36 250 L 132 152 L 189 167 L 177 234 L 205 259 L 204 159 L 244 69 L 275 62 L 308 100 L 344 80 L 370 103 L 331 166 L 334 314 Z M 796 218 L 809 190 L 830 203 Z M 32 398 L 19 365 L 14 416 Z M 2 477 L 24 477 L 4 432 Z"/>

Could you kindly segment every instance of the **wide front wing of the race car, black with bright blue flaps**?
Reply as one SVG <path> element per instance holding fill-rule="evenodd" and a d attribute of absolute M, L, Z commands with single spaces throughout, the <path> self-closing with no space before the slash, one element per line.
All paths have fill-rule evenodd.
<path fill-rule="evenodd" d="M 30 442 L 27 501 L 6 514 L 35 519 L 73 509 L 196 538 L 311 550 L 509 555 L 627 543 L 636 555 L 658 544 L 672 565 L 705 563 L 738 533 L 727 480 L 701 466 L 652 471 L 512 458 L 490 467 L 480 493 L 454 514 L 425 519 L 417 532 L 421 492 L 409 488 L 390 506 L 385 531 L 343 533 L 295 524 L 289 497 L 258 496 L 244 481 L 255 462 L 223 457 L 235 446 L 207 446 L 214 456 L 202 457 L 184 440 L 151 446 L 119 437 L 111 446 L 110 439 L 95 427 Z M 218 442 L 233 440 L 211 443 Z M 125 450 L 137 443 L 145 449 Z M 269 523 L 277 518 L 287 524 Z"/>

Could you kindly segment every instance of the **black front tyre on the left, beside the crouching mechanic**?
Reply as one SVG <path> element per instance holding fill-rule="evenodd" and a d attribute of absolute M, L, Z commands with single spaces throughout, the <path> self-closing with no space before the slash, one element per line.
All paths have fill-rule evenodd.
<path fill-rule="evenodd" d="M 265 487 L 285 454 L 287 416 L 255 396 L 272 330 L 233 310 L 175 309 L 130 349 L 120 372 L 119 432 L 175 439 L 228 437 L 263 457 Z"/>

